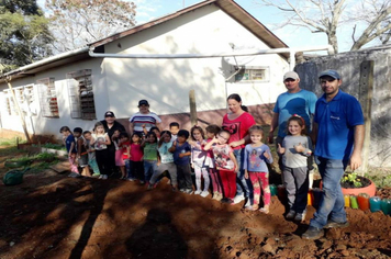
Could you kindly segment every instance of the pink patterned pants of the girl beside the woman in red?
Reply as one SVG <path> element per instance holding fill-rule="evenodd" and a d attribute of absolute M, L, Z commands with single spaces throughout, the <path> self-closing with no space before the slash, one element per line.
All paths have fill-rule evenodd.
<path fill-rule="evenodd" d="M 259 204 L 260 189 L 264 193 L 264 206 L 270 205 L 270 187 L 269 187 L 269 173 L 268 172 L 248 172 L 249 179 L 254 188 L 254 204 Z"/>

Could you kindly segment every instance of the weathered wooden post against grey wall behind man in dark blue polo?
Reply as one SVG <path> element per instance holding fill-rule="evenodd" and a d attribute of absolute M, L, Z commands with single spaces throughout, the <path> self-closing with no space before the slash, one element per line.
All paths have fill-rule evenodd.
<path fill-rule="evenodd" d="M 372 94 L 373 94 L 373 60 L 366 60 L 360 66 L 359 81 L 359 100 L 364 113 L 364 146 L 362 146 L 362 165 L 361 176 L 368 170 L 368 159 L 370 149 L 370 127 L 371 127 L 371 111 L 372 111 Z"/>

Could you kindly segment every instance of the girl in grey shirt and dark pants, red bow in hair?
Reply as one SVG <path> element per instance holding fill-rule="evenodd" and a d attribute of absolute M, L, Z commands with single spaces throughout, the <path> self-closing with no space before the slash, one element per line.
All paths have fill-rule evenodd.
<path fill-rule="evenodd" d="M 288 135 L 278 145 L 278 153 L 282 155 L 283 184 L 288 194 L 289 212 L 287 219 L 302 222 L 306 214 L 306 199 L 309 192 L 308 157 L 312 154 L 312 142 L 305 135 L 304 120 L 294 114 L 288 122 Z"/>

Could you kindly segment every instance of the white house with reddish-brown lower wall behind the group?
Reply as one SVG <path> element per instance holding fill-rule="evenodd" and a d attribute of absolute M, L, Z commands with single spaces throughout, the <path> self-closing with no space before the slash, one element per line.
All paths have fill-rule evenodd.
<path fill-rule="evenodd" d="M 0 128 L 23 132 L 7 80 L 35 135 L 58 136 L 63 125 L 91 130 L 108 110 L 126 126 L 141 99 L 164 127 L 178 121 L 189 128 L 190 90 L 200 123 L 221 123 L 235 92 L 265 124 L 286 90 L 289 54 L 221 54 L 276 48 L 287 45 L 233 0 L 206 0 L 0 76 Z"/>

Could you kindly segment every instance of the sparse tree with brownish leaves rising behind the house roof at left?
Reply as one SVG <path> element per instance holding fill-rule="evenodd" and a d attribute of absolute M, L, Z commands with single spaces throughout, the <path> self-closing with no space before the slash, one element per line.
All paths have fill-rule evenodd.
<path fill-rule="evenodd" d="M 65 52 L 135 25 L 136 5 L 122 0 L 46 0 L 54 48 Z"/>

